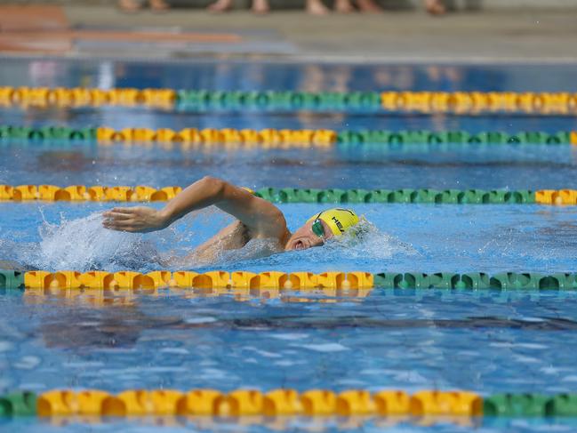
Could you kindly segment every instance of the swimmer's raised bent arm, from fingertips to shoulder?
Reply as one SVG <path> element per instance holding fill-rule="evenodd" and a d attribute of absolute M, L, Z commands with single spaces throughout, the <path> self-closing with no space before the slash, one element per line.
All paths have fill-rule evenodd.
<path fill-rule="evenodd" d="M 145 233 L 165 229 L 188 212 L 212 204 L 241 221 L 251 237 L 283 240 L 289 234 L 283 212 L 274 204 L 210 176 L 183 189 L 160 210 L 145 206 L 115 207 L 103 213 L 102 225 L 107 229 Z"/>

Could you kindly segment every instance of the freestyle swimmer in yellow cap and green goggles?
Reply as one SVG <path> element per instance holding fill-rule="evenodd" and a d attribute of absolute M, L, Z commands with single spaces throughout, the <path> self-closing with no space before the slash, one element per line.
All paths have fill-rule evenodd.
<path fill-rule="evenodd" d="M 283 212 L 274 204 L 254 196 L 246 188 L 206 176 L 183 189 L 163 209 L 115 207 L 103 213 L 102 225 L 106 229 L 147 233 L 165 229 L 189 212 L 210 205 L 232 215 L 236 221 L 196 248 L 196 257 L 209 260 L 217 249 L 240 249 L 252 239 L 272 239 L 279 252 L 306 250 L 341 236 L 359 221 L 357 214 L 349 209 L 330 209 L 316 213 L 291 233 L 286 227 Z"/>

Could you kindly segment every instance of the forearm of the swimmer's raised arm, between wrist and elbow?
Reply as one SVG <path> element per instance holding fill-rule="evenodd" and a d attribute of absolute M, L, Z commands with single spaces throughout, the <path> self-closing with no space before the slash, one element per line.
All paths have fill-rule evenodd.
<path fill-rule="evenodd" d="M 159 211 L 164 225 L 169 226 L 189 212 L 218 203 L 226 187 L 227 182 L 210 176 L 197 180 L 188 188 L 183 189 Z"/>

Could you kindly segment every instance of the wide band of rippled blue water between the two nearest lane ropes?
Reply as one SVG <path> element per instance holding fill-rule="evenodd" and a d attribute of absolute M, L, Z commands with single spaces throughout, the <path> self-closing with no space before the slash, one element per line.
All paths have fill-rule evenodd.
<path fill-rule="evenodd" d="M 12 374 L 2 388 L 434 387 L 487 394 L 577 386 L 565 350 L 577 330 L 575 293 L 239 296 L 6 294 L 0 349 Z"/>

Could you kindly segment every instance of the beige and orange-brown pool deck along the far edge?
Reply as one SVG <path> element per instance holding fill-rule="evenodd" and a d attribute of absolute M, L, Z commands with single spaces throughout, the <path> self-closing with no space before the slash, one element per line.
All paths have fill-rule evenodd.
<path fill-rule="evenodd" d="M 25 35 L 4 29 L 0 53 L 149 60 L 212 55 L 395 63 L 577 62 L 575 9 L 453 12 L 440 18 L 421 11 L 315 17 L 293 11 L 255 16 L 180 8 L 126 14 L 101 5 L 66 5 L 63 12 L 65 27 L 30 33 L 28 45 Z M 18 44 L 14 37 L 20 37 Z"/>

